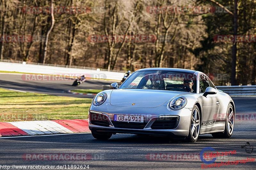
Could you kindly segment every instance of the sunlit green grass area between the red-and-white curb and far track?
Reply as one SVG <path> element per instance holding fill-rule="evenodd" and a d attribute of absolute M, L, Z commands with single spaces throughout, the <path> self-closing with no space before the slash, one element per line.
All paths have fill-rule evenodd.
<path fill-rule="evenodd" d="M 92 99 L 15 92 L 0 88 L 0 121 L 87 119 Z"/>

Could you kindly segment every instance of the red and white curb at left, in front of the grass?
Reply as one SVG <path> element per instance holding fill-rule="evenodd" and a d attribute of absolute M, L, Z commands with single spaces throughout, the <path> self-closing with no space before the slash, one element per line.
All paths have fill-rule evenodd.
<path fill-rule="evenodd" d="M 90 132 L 86 119 L 0 122 L 1 137 L 82 132 Z"/>

